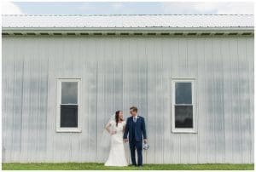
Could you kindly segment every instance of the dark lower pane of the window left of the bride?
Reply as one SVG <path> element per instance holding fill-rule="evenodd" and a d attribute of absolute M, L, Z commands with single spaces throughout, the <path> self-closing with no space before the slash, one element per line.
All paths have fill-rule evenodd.
<path fill-rule="evenodd" d="M 77 105 L 61 105 L 61 127 L 78 127 Z"/>

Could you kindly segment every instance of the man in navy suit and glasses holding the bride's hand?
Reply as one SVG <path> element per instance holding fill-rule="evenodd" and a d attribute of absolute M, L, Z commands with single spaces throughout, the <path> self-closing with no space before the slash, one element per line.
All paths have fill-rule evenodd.
<path fill-rule="evenodd" d="M 137 107 L 130 108 L 131 117 L 127 118 L 125 125 L 124 140 L 128 141 L 127 135 L 129 133 L 129 145 L 131 150 L 132 165 L 143 166 L 143 140 L 147 142 L 146 126 L 143 117 L 137 115 Z M 135 160 L 135 149 L 137 150 L 137 163 Z"/>

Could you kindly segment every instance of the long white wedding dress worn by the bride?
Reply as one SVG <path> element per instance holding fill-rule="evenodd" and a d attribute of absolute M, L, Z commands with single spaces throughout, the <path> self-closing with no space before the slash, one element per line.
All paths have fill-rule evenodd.
<path fill-rule="evenodd" d="M 111 124 L 112 130 L 116 131 L 116 134 L 111 135 L 111 148 L 105 166 L 127 166 L 128 163 L 125 158 L 125 146 L 123 141 L 123 127 L 125 126 L 125 121 L 116 123 L 114 120 L 109 122 Z"/>

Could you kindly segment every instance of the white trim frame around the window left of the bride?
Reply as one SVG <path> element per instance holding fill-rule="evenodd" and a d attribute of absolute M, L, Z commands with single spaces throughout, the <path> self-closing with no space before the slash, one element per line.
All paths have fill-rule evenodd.
<path fill-rule="evenodd" d="M 78 127 L 69 128 L 61 127 L 61 82 L 78 82 L 78 104 L 68 104 L 68 105 L 78 105 Z M 57 91 L 56 91 L 56 132 L 82 132 L 80 125 L 80 95 L 81 95 L 81 78 L 57 78 Z"/>

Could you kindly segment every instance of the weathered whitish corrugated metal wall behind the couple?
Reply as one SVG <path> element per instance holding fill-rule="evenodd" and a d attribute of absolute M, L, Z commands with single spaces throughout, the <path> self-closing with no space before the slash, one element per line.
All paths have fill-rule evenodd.
<path fill-rule="evenodd" d="M 3 162 L 104 162 L 135 105 L 144 163 L 253 163 L 253 37 L 3 37 L 2 61 Z M 82 79 L 82 133 L 55 132 L 57 77 Z M 171 77 L 195 77 L 196 134 L 171 131 Z"/>

